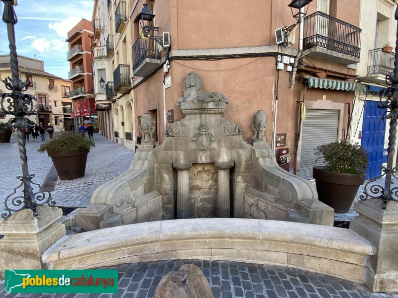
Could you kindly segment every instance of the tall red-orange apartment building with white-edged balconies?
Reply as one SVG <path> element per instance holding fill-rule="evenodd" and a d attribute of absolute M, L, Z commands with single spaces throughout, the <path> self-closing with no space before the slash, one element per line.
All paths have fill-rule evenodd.
<path fill-rule="evenodd" d="M 98 116 L 95 109 L 93 68 L 91 66 L 91 46 L 94 32 L 91 21 L 82 19 L 69 32 L 66 42 L 69 51 L 66 53 L 70 63 L 68 79 L 72 81 L 69 98 L 73 102 L 74 128 L 80 123 L 91 123 L 98 130 Z"/>

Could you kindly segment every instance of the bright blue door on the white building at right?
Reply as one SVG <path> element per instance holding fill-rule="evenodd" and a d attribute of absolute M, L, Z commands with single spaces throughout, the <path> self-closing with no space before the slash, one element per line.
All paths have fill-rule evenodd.
<path fill-rule="evenodd" d="M 362 126 L 361 146 L 368 152 L 368 170 L 366 179 L 374 179 L 382 174 L 384 138 L 386 135 L 386 121 L 382 120 L 386 109 L 377 107 L 378 101 L 366 101 Z"/>

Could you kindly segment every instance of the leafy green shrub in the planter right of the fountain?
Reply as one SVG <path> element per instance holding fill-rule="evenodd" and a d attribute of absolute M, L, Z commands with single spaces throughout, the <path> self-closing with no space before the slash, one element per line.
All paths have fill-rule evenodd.
<path fill-rule="evenodd" d="M 334 142 L 320 145 L 315 155 L 325 159 L 326 170 L 337 173 L 363 174 L 368 168 L 368 153 L 358 143 Z"/>

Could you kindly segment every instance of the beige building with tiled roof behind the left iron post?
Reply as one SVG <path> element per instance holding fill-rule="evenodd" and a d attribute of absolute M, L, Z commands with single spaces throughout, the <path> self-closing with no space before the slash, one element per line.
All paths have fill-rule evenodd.
<path fill-rule="evenodd" d="M 35 109 L 37 115 L 27 116 L 36 124 L 42 122 L 47 128 L 51 123 L 56 131 L 70 130 L 73 126 L 72 100 L 69 98 L 71 81 L 44 71 L 44 61 L 18 56 L 19 78 L 29 81 L 28 89 L 24 94 L 36 97 Z M 0 56 L 1 80 L 7 76 L 11 77 L 10 56 Z M 0 80 L 0 92 L 7 92 L 4 83 Z M 5 122 L 13 118 L 12 115 L 2 114 L 0 121 Z"/>

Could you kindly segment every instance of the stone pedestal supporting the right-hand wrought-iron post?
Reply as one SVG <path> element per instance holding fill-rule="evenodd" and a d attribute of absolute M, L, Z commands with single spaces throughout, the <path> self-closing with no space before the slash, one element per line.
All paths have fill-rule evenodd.
<path fill-rule="evenodd" d="M 369 199 L 354 203 L 358 216 L 351 219 L 350 229 L 375 246 L 368 260 L 366 285 L 373 292 L 398 292 L 398 202 Z"/>

